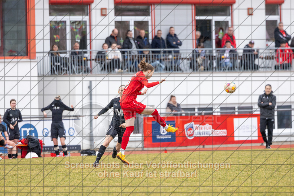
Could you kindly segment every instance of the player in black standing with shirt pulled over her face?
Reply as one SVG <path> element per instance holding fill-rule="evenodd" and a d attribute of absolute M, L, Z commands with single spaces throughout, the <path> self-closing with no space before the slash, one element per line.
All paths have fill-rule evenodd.
<path fill-rule="evenodd" d="M 63 110 L 74 111 L 74 106 L 71 105 L 71 108 L 66 106 L 62 101 L 60 96 L 57 96 L 52 103 L 50 103 L 46 108 L 42 108 L 41 111 L 43 112 L 44 116 L 47 117 L 45 110 L 52 111 L 52 124 L 51 124 L 51 140 L 54 144 L 54 150 L 56 153 L 56 157 L 59 157 L 59 146 L 57 138 L 59 136 L 60 143 L 62 146 L 62 151 L 64 156 L 67 157 L 67 148 L 65 145 L 65 128 L 62 122 L 62 112 Z"/>

